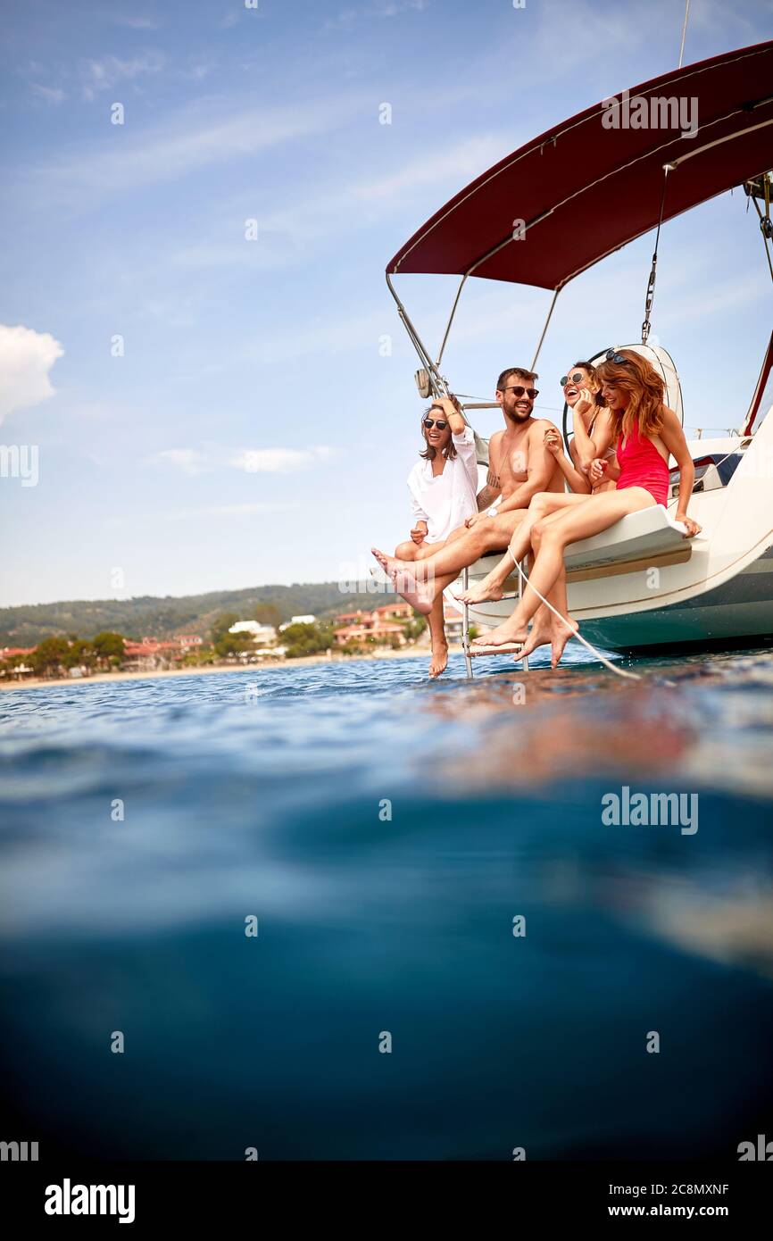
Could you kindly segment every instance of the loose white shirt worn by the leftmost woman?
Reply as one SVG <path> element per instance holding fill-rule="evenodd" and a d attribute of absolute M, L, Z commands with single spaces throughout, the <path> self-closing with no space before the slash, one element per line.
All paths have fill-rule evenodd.
<path fill-rule="evenodd" d="M 408 474 L 413 516 L 416 521 L 427 522 L 426 542 L 442 542 L 452 530 L 463 526 L 473 513 L 478 513 L 473 428 L 465 427 L 460 436 L 452 436 L 452 441 L 457 455 L 445 460 L 442 474 L 433 475 L 433 463 L 428 460 L 418 460 Z"/>

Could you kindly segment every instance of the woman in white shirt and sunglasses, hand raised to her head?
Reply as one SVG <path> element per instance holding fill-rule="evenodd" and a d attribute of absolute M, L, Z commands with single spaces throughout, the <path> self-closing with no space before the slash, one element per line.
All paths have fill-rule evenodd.
<path fill-rule="evenodd" d="M 478 511 L 478 463 L 475 436 L 468 427 L 455 397 L 442 397 L 422 417 L 426 448 L 408 475 L 413 510 L 411 540 L 400 544 L 400 560 L 424 560 L 445 542 L 453 530 Z M 427 618 L 432 640 L 429 675 L 439 676 L 448 664 L 448 642 L 443 624 L 443 594 Z"/>

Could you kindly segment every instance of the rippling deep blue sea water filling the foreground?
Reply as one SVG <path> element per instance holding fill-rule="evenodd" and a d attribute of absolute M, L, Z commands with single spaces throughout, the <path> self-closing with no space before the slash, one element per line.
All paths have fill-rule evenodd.
<path fill-rule="evenodd" d="M 2 694 L 24 1134 L 118 1158 L 684 1158 L 769 1127 L 773 660 L 640 661 L 633 684 L 583 658 Z M 607 825 L 624 787 L 696 794 L 697 831 Z"/>

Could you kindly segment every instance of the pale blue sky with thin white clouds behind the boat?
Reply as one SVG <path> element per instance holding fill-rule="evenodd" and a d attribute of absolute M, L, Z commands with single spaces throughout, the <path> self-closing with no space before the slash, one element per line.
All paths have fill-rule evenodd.
<path fill-rule="evenodd" d="M 681 0 L 6 4 L 0 442 L 36 446 L 40 479 L 0 478 L 0 602 L 336 580 L 404 537 L 422 403 L 386 262 L 503 155 L 675 66 L 682 14 Z M 685 61 L 772 32 L 771 0 L 692 0 Z M 558 416 L 576 356 L 638 339 L 650 254 L 651 237 L 562 295 L 543 414 Z M 436 347 L 454 285 L 400 282 Z M 503 366 L 527 365 L 548 300 L 470 282 L 452 386 L 488 397 Z M 742 194 L 665 228 L 653 330 L 689 426 L 739 423 L 769 311 Z"/>

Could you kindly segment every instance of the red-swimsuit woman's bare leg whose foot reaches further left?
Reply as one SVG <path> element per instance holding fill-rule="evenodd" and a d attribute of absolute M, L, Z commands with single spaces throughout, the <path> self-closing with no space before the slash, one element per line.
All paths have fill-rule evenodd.
<path fill-rule="evenodd" d="M 646 509 L 654 503 L 650 493 L 641 486 L 630 486 L 623 491 L 603 491 L 591 496 L 587 504 L 553 514 L 535 526 L 535 535 L 540 532 L 541 542 L 530 582 L 512 616 L 486 634 L 485 645 L 525 643 L 529 622 L 541 603 L 540 594 L 547 597 L 557 585 L 563 567 L 565 549 L 572 542 L 608 530 L 628 513 Z"/>

